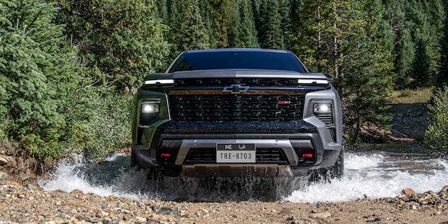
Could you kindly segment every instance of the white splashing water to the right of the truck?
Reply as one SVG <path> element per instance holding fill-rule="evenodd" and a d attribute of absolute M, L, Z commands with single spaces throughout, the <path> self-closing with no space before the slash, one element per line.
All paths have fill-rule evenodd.
<path fill-rule="evenodd" d="M 331 183 L 312 183 L 305 189 L 295 190 L 285 200 L 310 203 L 352 201 L 364 197 L 395 197 L 403 188 L 412 188 L 416 192 L 438 192 L 448 185 L 446 160 L 412 160 L 382 154 L 348 154 L 344 160 L 344 177 L 333 179 Z M 400 164 L 406 160 L 409 166 L 401 167 Z"/>

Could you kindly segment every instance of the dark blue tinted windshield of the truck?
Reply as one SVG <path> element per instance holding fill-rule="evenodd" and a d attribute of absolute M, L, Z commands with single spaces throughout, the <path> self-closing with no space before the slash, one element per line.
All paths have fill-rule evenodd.
<path fill-rule="evenodd" d="M 307 72 L 294 54 L 277 51 L 189 51 L 180 55 L 168 72 L 209 69 L 268 69 Z"/>

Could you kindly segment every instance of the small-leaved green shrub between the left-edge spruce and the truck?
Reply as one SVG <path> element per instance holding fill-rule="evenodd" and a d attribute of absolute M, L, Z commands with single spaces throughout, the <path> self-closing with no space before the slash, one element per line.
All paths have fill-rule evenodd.
<path fill-rule="evenodd" d="M 67 148 L 97 158 L 130 145 L 131 100 L 132 95 L 95 87 L 70 92 L 60 108 Z"/>

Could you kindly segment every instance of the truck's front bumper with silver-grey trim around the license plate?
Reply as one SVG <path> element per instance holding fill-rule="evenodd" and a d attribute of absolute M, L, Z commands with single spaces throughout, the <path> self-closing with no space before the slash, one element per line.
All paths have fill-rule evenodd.
<path fill-rule="evenodd" d="M 178 175 L 188 177 L 303 176 L 315 169 L 330 169 L 342 148 L 333 142 L 330 133 L 322 133 L 326 129 L 318 129 L 305 121 L 219 124 L 168 121 L 155 129 L 142 131 L 141 139 L 145 143 L 133 146 L 137 163 L 146 168 L 176 169 Z M 213 149 L 218 143 L 255 144 L 256 150 L 276 149 L 281 152 L 282 159 L 257 160 L 254 164 L 218 164 L 213 160 Z M 305 161 L 300 152 L 308 149 L 313 149 L 314 158 Z M 189 153 L 193 150 L 209 150 L 210 158 L 192 162 Z M 161 158 L 162 153 L 170 157 Z"/>

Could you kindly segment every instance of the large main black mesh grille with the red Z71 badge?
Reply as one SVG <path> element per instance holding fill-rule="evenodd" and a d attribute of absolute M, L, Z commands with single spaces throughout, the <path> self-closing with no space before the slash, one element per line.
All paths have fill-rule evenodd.
<path fill-rule="evenodd" d="M 174 121 L 294 122 L 303 95 L 169 95 Z"/>

